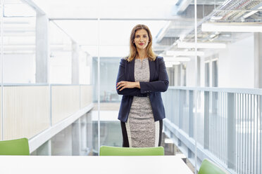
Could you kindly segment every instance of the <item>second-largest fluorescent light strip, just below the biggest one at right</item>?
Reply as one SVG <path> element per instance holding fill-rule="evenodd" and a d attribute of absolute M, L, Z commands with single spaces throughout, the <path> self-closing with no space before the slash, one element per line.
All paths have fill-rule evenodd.
<path fill-rule="evenodd" d="M 179 42 L 177 44 L 178 48 L 194 48 L 194 42 Z M 197 43 L 197 48 L 225 48 L 226 44 L 220 43 Z"/>

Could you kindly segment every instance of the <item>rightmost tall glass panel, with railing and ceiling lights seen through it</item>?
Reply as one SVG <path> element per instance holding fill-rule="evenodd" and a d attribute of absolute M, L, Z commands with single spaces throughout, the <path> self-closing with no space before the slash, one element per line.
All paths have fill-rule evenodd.
<path fill-rule="evenodd" d="M 255 83 L 260 74 L 257 69 L 261 69 L 261 6 L 261 1 L 197 1 L 197 48 L 204 53 L 199 56 L 200 67 L 208 72 L 211 86 L 261 88 Z M 201 86 L 207 85 L 205 82 L 201 81 Z M 243 98 L 222 91 L 208 94 L 208 102 L 201 102 L 209 109 L 201 114 L 204 148 L 232 173 L 260 173 L 256 136 L 261 134 L 255 131 L 258 101 L 246 94 Z"/>

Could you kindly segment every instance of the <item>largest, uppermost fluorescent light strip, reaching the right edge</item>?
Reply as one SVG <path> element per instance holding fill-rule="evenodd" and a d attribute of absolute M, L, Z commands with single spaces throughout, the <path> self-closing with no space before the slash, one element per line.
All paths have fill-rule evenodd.
<path fill-rule="evenodd" d="M 262 32 L 262 25 L 254 23 L 204 23 L 201 26 L 202 32 Z"/>

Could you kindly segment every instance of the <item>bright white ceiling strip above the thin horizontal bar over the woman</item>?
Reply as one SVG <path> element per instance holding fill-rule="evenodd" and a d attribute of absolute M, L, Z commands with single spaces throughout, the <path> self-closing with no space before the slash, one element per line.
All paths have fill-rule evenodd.
<path fill-rule="evenodd" d="M 32 0 L 49 18 L 172 18 L 177 0 Z"/>

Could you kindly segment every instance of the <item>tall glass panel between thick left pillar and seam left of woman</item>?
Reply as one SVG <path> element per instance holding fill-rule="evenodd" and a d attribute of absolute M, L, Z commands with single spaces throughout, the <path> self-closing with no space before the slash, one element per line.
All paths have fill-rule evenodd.
<path fill-rule="evenodd" d="M 95 155 L 98 110 L 92 84 L 97 83 L 97 76 L 92 74 L 97 72 L 97 62 L 94 52 L 83 49 L 82 44 L 97 41 L 97 21 L 51 20 L 49 27 L 52 124 L 63 122 L 80 109 L 92 109 L 94 104 L 94 109 L 51 139 L 52 155 Z M 98 48 L 97 43 L 92 46 Z"/>

